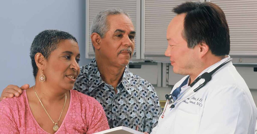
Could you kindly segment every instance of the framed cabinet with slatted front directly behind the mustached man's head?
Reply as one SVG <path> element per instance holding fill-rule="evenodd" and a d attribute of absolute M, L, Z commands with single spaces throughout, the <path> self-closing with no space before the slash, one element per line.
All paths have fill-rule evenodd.
<path fill-rule="evenodd" d="M 95 53 L 90 38 L 90 26 L 95 15 L 108 8 L 120 8 L 127 11 L 136 29 L 133 59 L 140 59 L 141 1 L 138 0 L 86 0 L 86 58 L 94 58 Z M 138 52 L 138 53 L 137 53 Z"/>

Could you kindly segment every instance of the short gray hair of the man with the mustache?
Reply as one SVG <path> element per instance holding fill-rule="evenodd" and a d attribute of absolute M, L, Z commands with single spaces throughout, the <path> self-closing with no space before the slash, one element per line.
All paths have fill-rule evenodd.
<path fill-rule="evenodd" d="M 105 33 L 109 30 L 109 23 L 107 21 L 107 17 L 109 15 L 118 15 L 118 14 L 124 14 L 128 16 L 128 18 L 130 18 L 130 16 L 126 11 L 123 11 L 122 9 L 118 9 L 118 8 L 106 9 L 104 11 L 100 11 L 99 13 L 97 13 L 91 24 L 90 34 L 97 33 L 100 35 L 101 38 L 104 38 Z M 94 45 L 93 45 L 93 49 L 95 51 Z"/>

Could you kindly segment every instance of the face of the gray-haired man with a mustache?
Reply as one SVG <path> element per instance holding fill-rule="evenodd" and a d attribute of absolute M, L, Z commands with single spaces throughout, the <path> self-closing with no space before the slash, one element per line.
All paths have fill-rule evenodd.
<path fill-rule="evenodd" d="M 131 20 L 124 14 L 110 15 L 107 18 L 109 30 L 100 39 L 100 57 L 116 66 L 126 66 L 135 47 L 135 29 Z"/>

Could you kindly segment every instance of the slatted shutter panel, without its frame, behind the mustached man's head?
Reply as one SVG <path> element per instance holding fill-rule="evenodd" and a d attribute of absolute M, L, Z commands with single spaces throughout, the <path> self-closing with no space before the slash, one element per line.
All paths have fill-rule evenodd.
<path fill-rule="evenodd" d="M 139 1 L 139 3 L 140 3 L 140 1 Z M 95 17 L 95 15 L 98 12 L 108 9 L 108 8 L 120 8 L 124 11 L 127 11 L 132 19 L 132 23 L 133 23 L 135 29 L 139 25 L 139 30 L 136 29 L 136 34 L 139 33 L 139 36 L 136 35 L 136 37 L 135 37 L 134 53 L 136 52 L 137 40 L 140 41 L 140 20 L 139 20 L 139 24 L 137 23 L 137 18 L 140 19 L 140 5 L 139 5 L 139 8 L 137 8 L 138 1 L 136 1 L 136 0 L 126 0 L 126 1 L 123 1 L 123 0 L 88 0 L 86 4 L 88 4 L 88 5 L 86 5 L 88 7 L 87 12 L 86 12 L 86 19 L 88 19 L 88 25 L 86 26 L 87 27 L 86 32 L 88 33 L 88 40 L 86 40 L 86 49 L 88 49 L 88 51 L 86 52 L 86 55 L 88 55 L 89 58 L 94 56 L 94 50 L 93 50 L 93 46 L 92 46 L 91 38 L 90 38 L 91 23 L 93 21 L 93 18 Z M 138 37 L 139 37 L 139 39 L 137 39 Z M 139 42 L 139 48 L 140 48 L 140 42 Z"/>

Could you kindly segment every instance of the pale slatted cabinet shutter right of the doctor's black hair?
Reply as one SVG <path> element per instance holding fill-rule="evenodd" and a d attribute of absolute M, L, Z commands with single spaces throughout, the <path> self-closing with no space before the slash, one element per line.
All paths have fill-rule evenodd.
<path fill-rule="evenodd" d="M 210 0 L 226 15 L 230 55 L 257 56 L 257 0 Z"/>

